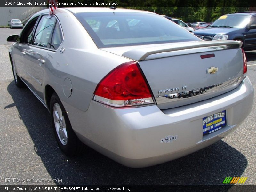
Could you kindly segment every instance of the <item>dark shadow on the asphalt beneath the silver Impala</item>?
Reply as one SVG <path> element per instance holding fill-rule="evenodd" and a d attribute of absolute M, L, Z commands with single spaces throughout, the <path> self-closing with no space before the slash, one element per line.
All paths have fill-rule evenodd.
<path fill-rule="evenodd" d="M 60 185 L 221 185 L 228 176 L 241 176 L 247 166 L 245 156 L 222 140 L 171 162 L 139 169 L 118 164 L 91 148 L 83 156 L 68 157 L 57 146 L 48 110 L 32 92 L 17 88 L 14 81 L 7 90 L 36 154 L 52 179 L 62 180 Z"/>

